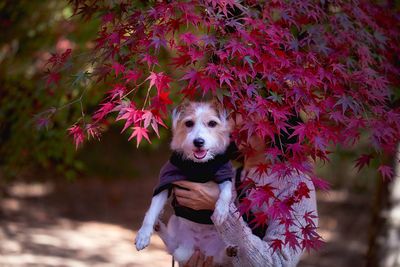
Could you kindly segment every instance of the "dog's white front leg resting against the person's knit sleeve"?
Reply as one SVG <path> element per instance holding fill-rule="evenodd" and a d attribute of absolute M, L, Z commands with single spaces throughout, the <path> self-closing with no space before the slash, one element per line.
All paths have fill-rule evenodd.
<path fill-rule="evenodd" d="M 226 181 L 218 185 L 220 189 L 219 198 L 215 203 L 213 213 L 214 223 L 217 225 L 222 224 L 229 212 L 229 203 L 232 199 L 232 182 Z"/>

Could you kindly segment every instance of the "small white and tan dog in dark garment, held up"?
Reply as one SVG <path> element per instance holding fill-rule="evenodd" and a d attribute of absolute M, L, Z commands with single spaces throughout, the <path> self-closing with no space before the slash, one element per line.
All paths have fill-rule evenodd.
<path fill-rule="evenodd" d="M 195 249 L 199 249 L 205 256 L 213 256 L 214 264 L 226 266 L 225 244 L 219 238 L 213 221 L 221 224 L 226 219 L 233 194 L 233 168 L 226 156 L 230 144 L 227 114 L 215 103 L 186 102 L 173 111 L 172 130 L 173 153 L 160 172 L 160 184 L 154 190 L 150 208 L 135 239 L 136 249 L 142 250 L 149 245 L 157 226 L 169 253 L 180 265 L 190 259 Z M 167 178 L 163 181 L 165 176 Z M 175 214 L 165 226 L 159 221 L 159 215 L 171 195 L 172 182 L 183 179 L 216 181 L 220 195 L 215 209 L 194 211 L 173 200 Z"/>

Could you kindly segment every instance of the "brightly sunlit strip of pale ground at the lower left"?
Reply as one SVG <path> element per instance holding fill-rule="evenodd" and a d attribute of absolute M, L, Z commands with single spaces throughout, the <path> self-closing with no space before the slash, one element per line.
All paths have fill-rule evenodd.
<path fill-rule="evenodd" d="M 170 257 L 161 240 L 154 236 L 139 253 L 132 245 L 134 233 L 117 225 L 66 219 L 46 227 L 9 223 L 0 230 L 0 266 L 166 266 Z"/>

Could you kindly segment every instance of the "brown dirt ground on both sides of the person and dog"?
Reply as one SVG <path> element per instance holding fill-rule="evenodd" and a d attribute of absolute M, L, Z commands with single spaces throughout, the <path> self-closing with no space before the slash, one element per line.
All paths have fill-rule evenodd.
<path fill-rule="evenodd" d="M 143 252 L 133 246 L 154 182 L 14 184 L 1 202 L 0 266 L 170 266 L 157 237 Z M 327 244 L 299 266 L 363 266 L 368 198 L 321 194 L 319 214 Z"/>

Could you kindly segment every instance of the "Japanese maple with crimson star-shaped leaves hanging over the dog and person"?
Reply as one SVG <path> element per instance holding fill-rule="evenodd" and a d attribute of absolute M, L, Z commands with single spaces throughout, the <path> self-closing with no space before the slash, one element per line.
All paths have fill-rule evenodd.
<path fill-rule="evenodd" d="M 390 2 L 370 1 L 93 1 L 70 0 L 75 14 L 101 18 L 88 68 L 92 83 L 105 83 L 104 101 L 92 116 L 69 129 L 76 146 L 110 117 L 139 145 L 166 127 L 169 110 L 183 98 L 217 98 L 245 122 L 233 131 L 245 157 L 252 136 L 265 140 L 265 163 L 257 174 L 289 179 L 309 175 L 313 161 L 327 161 L 332 145 L 352 146 L 368 136 L 362 168 L 382 154 L 393 155 L 400 138 L 400 16 Z M 56 85 L 74 53 L 49 61 L 47 85 Z M 65 69 L 65 68 L 64 68 Z M 176 100 L 173 103 L 172 99 Z M 294 120 L 293 118 L 301 118 Z M 285 144 L 281 136 L 291 140 Z M 389 178 L 392 169 L 382 163 Z M 254 225 L 278 219 L 286 231 L 271 241 L 274 251 L 317 248 L 321 239 L 315 211 L 294 214 L 292 206 L 309 198 L 305 183 L 277 198 L 271 185 L 245 182 L 249 194 L 239 210 L 270 203 L 255 214 Z M 307 225 L 298 223 L 299 216 Z"/>

